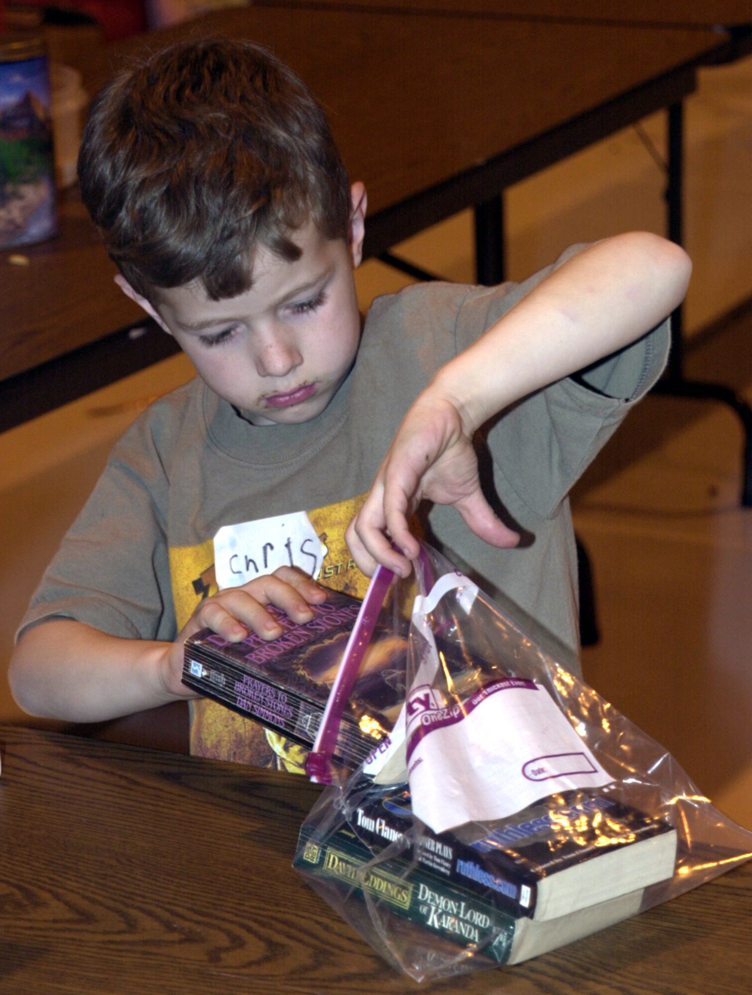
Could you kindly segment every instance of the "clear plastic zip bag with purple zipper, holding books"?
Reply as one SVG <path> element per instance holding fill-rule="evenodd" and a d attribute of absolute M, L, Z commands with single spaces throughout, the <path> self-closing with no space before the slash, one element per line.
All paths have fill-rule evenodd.
<path fill-rule="evenodd" d="M 410 619 L 405 707 L 333 778 L 294 860 L 387 961 L 418 981 L 519 963 L 752 857 L 656 740 L 426 544 L 415 573 L 379 619 L 402 635 Z"/>

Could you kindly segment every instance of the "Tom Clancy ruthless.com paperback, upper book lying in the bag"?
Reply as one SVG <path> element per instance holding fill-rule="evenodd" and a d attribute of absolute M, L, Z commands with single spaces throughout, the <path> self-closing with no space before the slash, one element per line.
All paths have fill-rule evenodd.
<path fill-rule="evenodd" d="M 411 831 L 407 785 L 371 787 L 353 806 L 349 825 L 376 850 L 404 840 L 406 859 L 511 915 L 538 921 L 664 881 L 676 858 L 671 826 L 607 791 L 550 795 L 490 832 L 470 825 L 437 834 L 420 823 Z"/>

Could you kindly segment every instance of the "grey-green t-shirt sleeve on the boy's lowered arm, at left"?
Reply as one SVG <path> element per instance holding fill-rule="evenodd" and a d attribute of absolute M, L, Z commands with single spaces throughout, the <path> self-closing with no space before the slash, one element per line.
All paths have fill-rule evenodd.
<path fill-rule="evenodd" d="M 173 639 L 163 511 L 166 471 L 149 421 L 139 419 L 110 454 L 92 496 L 35 591 L 19 634 L 62 617 L 112 636 Z"/>

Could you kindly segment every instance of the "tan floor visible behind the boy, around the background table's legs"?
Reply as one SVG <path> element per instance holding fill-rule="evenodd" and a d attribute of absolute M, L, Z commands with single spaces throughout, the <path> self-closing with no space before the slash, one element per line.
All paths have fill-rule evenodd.
<path fill-rule="evenodd" d="M 662 231 L 663 178 L 646 139 L 661 115 L 508 192 L 509 275 L 566 246 L 630 228 Z M 687 107 L 688 368 L 752 400 L 752 59 L 707 70 Z M 470 281 L 470 216 L 400 251 Z M 358 274 L 362 306 L 406 279 L 379 263 Z M 0 435 L 0 667 L 15 625 L 112 441 L 155 394 L 191 375 L 174 357 Z M 584 653 L 604 697 L 669 748 L 699 788 L 752 827 L 752 510 L 738 506 L 740 430 L 716 404 L 649 398 L 578 487 L 577 527 L 591 554 L 602 639 Z M 21 720 L 0 680 L 0 720 Z"/>

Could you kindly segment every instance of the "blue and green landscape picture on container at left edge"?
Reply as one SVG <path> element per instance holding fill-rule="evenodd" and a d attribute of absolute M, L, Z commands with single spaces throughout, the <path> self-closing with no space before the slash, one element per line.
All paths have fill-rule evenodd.
<path fill-rule="evenodd" d="M 0 62 L 0 248 L 57 232 L 47 59 Z"/>

